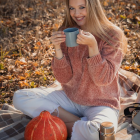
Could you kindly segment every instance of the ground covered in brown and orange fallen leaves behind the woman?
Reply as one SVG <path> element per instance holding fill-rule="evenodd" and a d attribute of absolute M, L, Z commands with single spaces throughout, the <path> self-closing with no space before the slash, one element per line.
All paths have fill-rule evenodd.
<path fill-rule="evenodd" d="M 0 104 L 21 88 L 51 84 L 52 31 L 62 24 L 63 0 L 0 1 Z M 128 50 L 122 68 L 140 75 L 140 0 L 101 0 L 107 18 L 123 29 Z"/>

